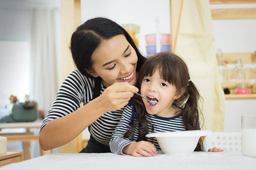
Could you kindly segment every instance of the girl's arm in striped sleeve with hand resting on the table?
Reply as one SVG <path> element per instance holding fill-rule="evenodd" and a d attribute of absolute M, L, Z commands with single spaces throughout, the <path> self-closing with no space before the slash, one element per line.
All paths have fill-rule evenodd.
<path fill-rule="evenodd" d="M 130 103 L 125 107 L 122 118 L 115 128 L 112 138 L 110 140 L 110 150 L 112 153 L 120 155 L 133 155 L 140 156 L 152 156 L 156 153 L 155 146 L 148 141 L 136 142 L 134 132 L 131 133 L 128 138 L 124 138 L 125 132 L 130 128 L 130 121 L 132 117 L 132 107 Z"/>

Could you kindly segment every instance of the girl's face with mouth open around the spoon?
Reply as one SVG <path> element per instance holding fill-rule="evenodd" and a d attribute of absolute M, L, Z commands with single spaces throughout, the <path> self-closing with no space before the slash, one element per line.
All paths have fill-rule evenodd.
<path fill-rule="evenodd" d="M 158 101 L 155 105 L 149 104 L 143 99 L 143 103 L 150 115 L 161 117 L 173 117 L 175 109 L 172 103 L 178 98 L 176 87 L 160 77 L 159 69 L 156 69 L 151 77 L 144 77 L 141 82 L 141 95 L 148 100 Z"/>

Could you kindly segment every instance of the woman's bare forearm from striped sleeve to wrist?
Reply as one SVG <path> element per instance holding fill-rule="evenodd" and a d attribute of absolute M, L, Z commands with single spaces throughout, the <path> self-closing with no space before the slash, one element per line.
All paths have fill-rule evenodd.
<path fill-rule="evenodd" d="M 39 135 L 39 143 L 43 150 L 62 146 L 77 137 L 92 122 L 105 113 L 100 107 L 100 97 L 76 111 L 48 122 Z"/>

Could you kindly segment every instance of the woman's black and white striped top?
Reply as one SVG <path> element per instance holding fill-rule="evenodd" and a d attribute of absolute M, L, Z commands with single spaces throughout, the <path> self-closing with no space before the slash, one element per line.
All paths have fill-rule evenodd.
<path fill-rule="evenodd" d="M 40 131 L 53 119 L 68 115 L 80 107 L 80 103 L 86 105 L 92 100 L 95 82 L 93 78 L 82 75 L 79 70 L 74 70 L 64 80 L 57 92 L 54 104 L 43 120 Z M 101 84 L 100 95 L 105 90 Z M 124 108 L 113 112 L 106 112 L 89 126 L 89 132 L 98 142 L 108 145 L 111 135 L 121 119 Z M 86 114 L 86 113 L 84 113 Z"/>

